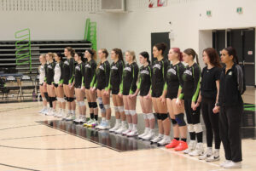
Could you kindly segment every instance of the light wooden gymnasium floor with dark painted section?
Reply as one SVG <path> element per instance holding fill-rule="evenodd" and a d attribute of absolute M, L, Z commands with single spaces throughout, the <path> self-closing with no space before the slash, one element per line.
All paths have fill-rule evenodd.
<path fill-rule="evenodd" d="M 255 92 L 255 88 L 247 88 L 243 96 L 245 103 L 255 104 Z M 219 162 L 224 161 L 223 148 L 219 162 L 203 162 L 182 152 L 150 145 L 147 141 L 56 121 L 55 117 L 39 115 L 40 109 L 38 102 L 0 104 L 1 171 L 224 170 L 218 167 Z M 141 113 L 138 101 L 137 112 Z M 143 117 L 139 117 L 143 123 Z M 243 165 L 241 169 L 231 170 L 254 171 L 254 111 L 244 115 L 242 125 Z M 143 127 L 139 128 L 141 133 Z"/>

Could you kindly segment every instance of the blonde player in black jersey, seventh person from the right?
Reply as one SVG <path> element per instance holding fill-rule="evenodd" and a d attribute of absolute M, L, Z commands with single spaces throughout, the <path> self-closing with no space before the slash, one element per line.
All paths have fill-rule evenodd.
<path fill-rule="evenodd" d="M 138 66 L 135 62 L 135 53 L 133 51 L 126 51 L 125 60 L 127 64 L 125 65 L 125 69 L 123 71 L 123 78 L 120 85 L 119 97 L 123 97 L 124 100 L 125 116 L 127 119 L 128 128 L 123 131 L 122 134 L 127 136 L 137 136 L 137 97 L 129 96 L 134 94 L 137 89 Z"/>

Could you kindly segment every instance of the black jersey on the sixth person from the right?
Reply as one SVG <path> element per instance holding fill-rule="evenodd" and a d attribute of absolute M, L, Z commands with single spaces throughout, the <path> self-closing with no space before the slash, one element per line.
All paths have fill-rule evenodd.
<path fill-rule="evenodd" d="M 151 66 L 141 66 L 139 71 L 139 83 L 137 88 L 140 89 L 140 95 L 148 95 L 149 89 L 151 87 Z"/>

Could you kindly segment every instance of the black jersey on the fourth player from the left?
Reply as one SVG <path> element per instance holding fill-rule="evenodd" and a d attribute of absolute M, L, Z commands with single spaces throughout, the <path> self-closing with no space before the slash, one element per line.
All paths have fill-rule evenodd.
<path fill-rule="evenodd" d="M 73 82 L 73 71 L 75 67 L 75 61 L 73 58 L 65 60 L 63 65 L 63 83 L 68 84 Z"/>

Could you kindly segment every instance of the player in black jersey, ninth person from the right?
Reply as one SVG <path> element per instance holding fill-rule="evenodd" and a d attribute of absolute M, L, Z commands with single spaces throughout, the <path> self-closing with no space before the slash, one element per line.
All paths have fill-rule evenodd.
<path fill-rule="evenodd" d="M 99 129 L 110 128 L 111 108 L 110 108 L 110 97 L 107 96 L 106 89 L 109 83 L 110 64 L 107 60 L 108 50 L 102 48 L 98 51 L 98 56 L 101 59 L 99 66 L 96 71 L 96 83 L 94 88 L 97 91 L 97 99 L 102 111 L 102 122 L 96 127 Z"/>

